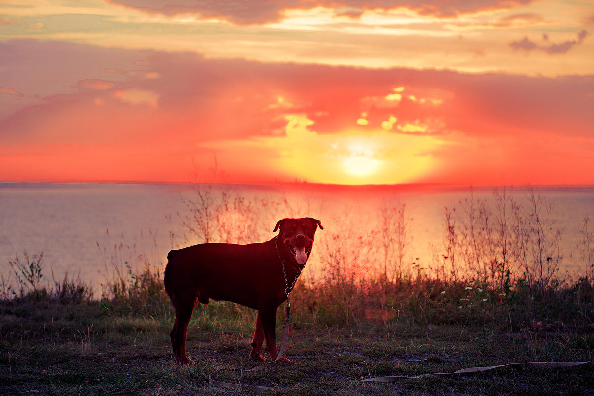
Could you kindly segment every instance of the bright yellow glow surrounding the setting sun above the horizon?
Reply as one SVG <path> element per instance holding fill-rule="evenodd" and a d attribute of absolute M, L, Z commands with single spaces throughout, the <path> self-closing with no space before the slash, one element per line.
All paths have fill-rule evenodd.
<path fill-rule="evenodd" d="M 286 117 L 283 135 L 211 142 L 201 148 L 214 149 L 219 163 L 241 157 L 249 167 L 265 158 L 269 167 L 295 174 L 297 180 L 359 185 L 412 183 L 431 169 L 431 151 L 444 144 L 431 136 L 386 130 L 320 135 L 304 115 Z M 269 157 L 275 154 L 277 158 Z"/>

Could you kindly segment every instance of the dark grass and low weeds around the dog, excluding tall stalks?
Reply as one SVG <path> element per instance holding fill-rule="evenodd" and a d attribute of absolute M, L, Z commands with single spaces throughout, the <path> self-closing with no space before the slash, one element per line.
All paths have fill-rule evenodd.
<path fill-rule="evenodd" d="M 248 359 L 255 312 L 228 302 L 198 306 L 188 333 L 188 355 L 197 364 L 176 366 L 169 340 L 172 309 L 140 303 L 166 301 L 162 287 L 156 286 L 162 285 L 156 282 L 159 277 L 148 269 L 133 274 L 131 279 L 144 282 L 128 283 L 126 293 L 100 300 L 65 301 L 56 289 L 3 299 L 0 394 L 254 393 L 210 387 L 208 375 L 219 368 L 256 365 Z M 292 295 L 286 352 L 292 361 L 240 374 L 242 384 L 271 386 L 264 392 L 276 395 L 594 393 L 591 364 L 502 368 L 390 384 L 361 382 L 362 377 L 413 376 L 512 362 L 592 360 L 592 312 L 585 311 L 592 309 L 589 283 L 549 293 L 546 299 L 526 298 L 523 292 L 529 290 L 522 285 L 514 285 L 503 298 L 486 289 L 479 292 L 430 280 L 414 285 L 386 282 L 359 290 L 349 302 L 340 303 L 346 294 L 332 295 L 321 285 L 298 285 Z M 339 308 L 330 309 L 330 304 Z M 339 312 L 340 304 L 349 304 L 349 315 Z M 225 371 L 219 379 L 233 382 L 237 375 Z"/>

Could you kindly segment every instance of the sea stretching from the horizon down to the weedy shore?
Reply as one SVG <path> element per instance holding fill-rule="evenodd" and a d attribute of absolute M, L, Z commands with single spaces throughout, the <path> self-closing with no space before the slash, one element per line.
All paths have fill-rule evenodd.
<path fill-rule="evenodd" d="M 40 254 L 42 282 L 52 286 L 65 276 L 78 277 L 95 295 L 115 267 L 138 270 L 149 264 L 163 270 L 169 250 L 204 241 L 193 224 L 203 204 L 223 208 L 225 215 L 218 213 L 217 219 L 224 219 L 227 228 L 238 223 L 235 235 L 226 234 L 230 242 L 266 241 L 274 237 L 277 220 L 310 216 L 324 227 L 315 244 L 328 246 L 332 238 L 337 248 L 359 235 L 373 235 L 381 228 L 382 210 L 404 207 L 406 259 L 427 263 L 445 252 L 445 213 L 453 213 L 455 221 L 469 202 L 481 200 L 497 210 L 495 194 L 513 197 L 525 210 L 531 194 L 538 196 L 543 221 L 563 232 L 560 273 L 589 273 L 584 247 L 587 242 L 594 247 L 594 241 L 586 236 L 584 219 L 592 219 L 589 231 L 594 231 L 594 187 L 0 183 L 0 286 L 17 280 L 15 263 L 26 264 L 26 257 Z M 218 205 L 223 196 L 225 205 Z M 257 222 L 257 231 L 244 222 Z M 312 268 L 320 270 L 315 263 Z"/>

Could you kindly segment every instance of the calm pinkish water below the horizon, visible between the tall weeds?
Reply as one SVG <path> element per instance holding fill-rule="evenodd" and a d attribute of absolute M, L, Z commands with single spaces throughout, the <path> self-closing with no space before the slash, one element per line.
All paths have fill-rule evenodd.
<path fill-rule="evenodd" d="M 345 223 L 352 235 L 364 234 L 377 227 L 380 205 L 399 200 L 406 203 L 407 217 L 413 218 L 412 257 L 429 257 L 431 249 L 443 247 L 444 206 L 459 206 L 460 200 L 470 197 L 467 188 L 237 186 L 233 191 L 268 204 L 262 204 L 263 229 L 257 241 L 273 237 L 274 223 L 288 216 L 320 219 L 324 231 L 318 232 L 317 240 L 344 229 Z M 594 223 L 594 189 L 541 188 L 538 192 L 555 204 L 554 218 L 564 228 L 561 271 L 583 271 L 576 244 L 582 238 L 584 216 Z M 513 196 L 523 202 L 526 192 L 515 189 Z M 116 260 L 133 262 L 142 254 L 152 264 L 164 266 L 168 251 L 187 243 L 176 237 L 183 234 L 182 216 L 187 213 L 182 197 L 192 197 L 189 186 L 0 183 L 0 274 L 6 279 L 12 272 L 9 261 L 18 256 L 23 262 L 24 251 L 30 255 L 43 251 L 45 278 L 52 285 L 52 270 L 56 280 L 65 272 L 80 272 L 81 279 L 97 293 L 114 255 Z M 474 197 L 492 200 L 492 190 L 475 190 Z M 124 247 L 114 247 L 120 243 Z"/>

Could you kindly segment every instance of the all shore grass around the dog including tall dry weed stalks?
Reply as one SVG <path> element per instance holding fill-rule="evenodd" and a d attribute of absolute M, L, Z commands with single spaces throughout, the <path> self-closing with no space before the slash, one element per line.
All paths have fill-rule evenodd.
<path fill-rule="evenodd" d="M 250 216 L 258 205 L 232 195 L 216 204 L 210 190 L 198 192 L 187 203 L 189 234 L 202 241 L 251 234 L 235 226 L 256 224 Z M 594 363 L 512 366 L 389 384 L 361 381 L 594 359 L 589 219 L 580 244 L 586 272 L 577 280 L 559 280 L 563 257 L 555 252 L 563 233 L 542 231 L 555 229 L 548 216 L 552 206 L 531 198 L 528 209 L 505 191 L 495 196 L 498 209 L 472 197 L 460 203 L 462 210 L 445 208 L 445 254 L 412 264 L 406 264 L 413 261 L 406 261 L 412 219 L 403 204 L 386 206 L 383 228 L 369 235 L 348 234 L 348 225 L 326 226 L 316 241 L 321 276 L 304 274 L 291 295 L 285 353 L 291 362 L 251 373 L 223 371 L 218 379 L 270 386 L 263 392 L 274 395 L 594 395 Z M 227 219 L 229 208 L 242 220 Z M 212 223 L 220 225 L 214 234 Z M 374 245 L 378 240 L 383 242 Z M 0 395 L 256 392 L 208 384 L 217 369 L 257 365 L 248 359 L 254 311 L 228 302 L 198 305 L 187 342 L 196 365 L 176 366 L 169 339 L 175 315 L 162 273 L 123 243 L 113 251 L 104 248 L 103 255 L 106 269 L 110 264 L 113 270 L 99 298 L 68 274 L 53 279 L 53 286 L 41 282 L 48 279 L 43 254 L 10 262 L 17 284 L 4 276 L 0 282 Z M 279 309 L 279 338 L 283 316 Z"/>

